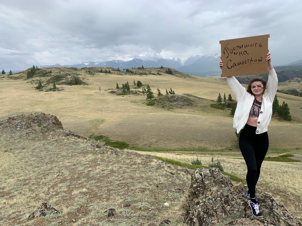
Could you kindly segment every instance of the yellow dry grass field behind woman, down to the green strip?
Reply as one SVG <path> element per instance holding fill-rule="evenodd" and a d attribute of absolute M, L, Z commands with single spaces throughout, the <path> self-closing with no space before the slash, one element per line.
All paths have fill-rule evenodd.
<path fill-rule="evenodd" d="M 121 140 L 132 146 L 165 148 L 206 147 L 209 149 L 233 148 L 236 143 L 233 118 L 229 110 L 210 108 L 218 93 L 231 93 L 226 81 L 201 78 L 175 73 L 168 75 L 164 69 L 137 69 L 162 75 L 139 76 L 124 72 L 114 74 L 88 74 L 86 70 L 70 68 L 47 68 L 52 75 L 60 73 L 78 74 L 89 85 L 59 86 L 65 90 L 39 92 L 36 84 L 29 80 L 0 79 L 0 116 L 17 111 L 42 111 L 56 115 L 65 129 L 82 136 L 105 135 L 112 140 Z M 90 68 L 90 71 L 100 70 Z M 112 69 L 113 71 L 113 69 Z M 25 73 L 24 73 L 25 74 Z M 25 75 L 24 75 L 25 76 Z M 37 83 L 38 78 L 34 78 Z M 47 79 L 45 79 L 47 80 Z M 156 96 L 156 89 L 162 93 L 170 87 L 176 94 L 189 93 L 204 98 L 191 107 L 182 109 L 146 106 L 146 96 L 117 96 L 105 89 L 115 89 L 116 83 L 133 80 L 149 84 Z M 43 82 L 42 82 L 43 83 Z M 99 92 L 99 87 L 101 92 Z M 141 90 L 141 89 L 136 89 Z M 192 98 L 194 100 L 194 98 Z M 273 119 L 269 125 L 271 148 L 298 148 L 302 146 L 302 98 L 278 93 L 279 103 L 288 103 L 293 121 Z M 213 102 L 214 103 L 214 102 Z"/>

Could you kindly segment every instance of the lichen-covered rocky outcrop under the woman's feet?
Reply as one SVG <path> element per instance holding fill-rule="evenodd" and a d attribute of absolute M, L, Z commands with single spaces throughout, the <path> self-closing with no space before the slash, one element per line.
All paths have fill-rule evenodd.
<path fill-rule="evenodd" d="M 260 210 L 264 217 L 252 215 L 246 188 L 232 189 L 229 176 L 217 168 L 200 168 L 192 173 L 185 222 L 188 225 L 302 225 L 267 192 L 260 192 Z"/>

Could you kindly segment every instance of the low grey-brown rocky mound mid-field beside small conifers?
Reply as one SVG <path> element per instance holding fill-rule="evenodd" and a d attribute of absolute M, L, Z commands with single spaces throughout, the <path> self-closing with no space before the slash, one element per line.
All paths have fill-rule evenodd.
<path fill-rule="evenodd" d="M 168 94 L 163 96 L 157 96 L 149 101 L 149 103 L 155 103 L 159 106 L 165 106 L 169 108 L 184 108 L 185 106 L 192 106 L 193 100 L 187 96 L 178 94 Z"/>

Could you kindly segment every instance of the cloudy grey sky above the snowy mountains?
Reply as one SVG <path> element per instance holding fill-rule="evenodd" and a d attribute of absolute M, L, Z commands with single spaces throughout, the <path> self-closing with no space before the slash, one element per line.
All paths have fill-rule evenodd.
<path fill-rule="evenodd" d="M 272 63 L 302 59 L 302 1 L 1 0 L 0 70 L 220 53 L 270 34 Z"/>

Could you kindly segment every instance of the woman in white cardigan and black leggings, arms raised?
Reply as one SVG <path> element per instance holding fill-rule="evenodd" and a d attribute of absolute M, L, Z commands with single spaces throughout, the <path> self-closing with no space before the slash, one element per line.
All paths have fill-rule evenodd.
<path fill-rule="evenodd" d="M 221 57 L 220 57 L 221 58 Z M 278 78 L 271 64 L 271 53 L 268 52 L 268 82 L 262 78 L 253 78 L 247 90 L 235 77 L 227 77 L 227 83 L 235 94 L 237 107 L 234 115 L 234 127 L 237 133 L 243 128 L 239 136 L 239 148 L 247 166 L 246 183 L 249 205 L 252 214 L 263 217 L 259 210 L 260 203 L 255 196 L 255 187 L 260 175 L 261 164 L 268 150 L 267 127 L 271 121 L 273 101 L 277 92 Z M 220 68 L 223 62 L 220 61 Z"/>

